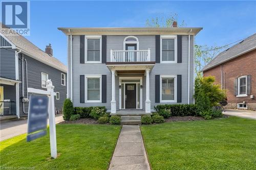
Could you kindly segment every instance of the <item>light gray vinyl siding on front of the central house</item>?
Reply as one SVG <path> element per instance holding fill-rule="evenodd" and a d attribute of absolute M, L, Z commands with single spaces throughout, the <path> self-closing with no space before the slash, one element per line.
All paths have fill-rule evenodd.
<path fill-rule="evenodd" d="M 105 106 L 108 110 L 111 109 L 111 90 L 112 90 L 112 74 L 105 64 L 92 64 L 92 63 L 80 63 L 80 36 L 72 36 L 72 54 L 73 54 L 73 104 L 74 106 Z M 123 39 L 126 36 L 122 35 L 108 35 L 106 36 L 106 61 L 110 62 L 110 50 L 123 50 Z M 139 35 L 139 50 L 147 50 L 151 48 L 151 61 L 155 61 L 155 35 Z M 190 37 L 190 95 L 189 103 L 193 103 L 194 93 L 194 52 L 193 52 L 194 37 Z M 71 51 L 70 51 L 70 36 L 68 37 L 68 69 L 69 69 L 69 98 L 71 98 Z M 107 79 L 107 92 L 106 103 L 80 103 L 80 75 L 106 75 Z M 151 109 L 154 110 L 155 105 L 167 104 L 167 103 L 155 103 L 155 75 L 182 75 L 182 104 L 188 102 L 188 36 L 182 36 L 182 63 L 156 63 L 152 71 L 150 72 L 150 100 Z M 128 75 L 126 75 L 128 76 Z M 137 75 L 138 76 L 138 75 Z M 142 108 L 145 109 L 146 99 L 146 78 L 143 77 L 143 93 L 142 93 Z M 123 77 L 123 76 L 122 76 Z M 115 77 L 116 88 L 116 109 L 119 109 L 119 76 Z M 87 91 L 86 91 L 87 92 Z M 170 103 L 168 103 L 170 104 Z M 176 103 L 173 103 L 176 104 Z"/>

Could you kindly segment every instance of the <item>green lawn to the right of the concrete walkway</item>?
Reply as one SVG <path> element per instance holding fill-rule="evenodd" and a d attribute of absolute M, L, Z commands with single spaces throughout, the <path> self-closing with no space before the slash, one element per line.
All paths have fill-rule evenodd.
<path fill-rule="evenodd" d="M 164 123 L 141 132 L 152 169 L 256 169 L 256 120 Z"/>

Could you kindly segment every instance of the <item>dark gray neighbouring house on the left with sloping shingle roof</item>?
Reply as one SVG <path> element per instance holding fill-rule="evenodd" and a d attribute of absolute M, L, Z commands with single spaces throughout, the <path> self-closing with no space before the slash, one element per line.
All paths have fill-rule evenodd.
<path fill-rule="evenodd" d="M 67 66 L 53 57 L 51 45 L 46 51 L 2 25 L 0 33 L 0 113 L 27 116 L 28 88 L 44 89 L 51 79 L 55 86 L 55 110 L 62 111 L 67 97 Z"/>

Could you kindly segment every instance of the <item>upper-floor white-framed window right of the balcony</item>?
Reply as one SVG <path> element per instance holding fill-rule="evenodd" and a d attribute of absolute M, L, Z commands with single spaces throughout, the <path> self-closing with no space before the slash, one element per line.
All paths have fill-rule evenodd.
<path fill-rule="evenodd" d="M 160 41 L 160 58 L 162 63 L 177 62 L 177 36 L 162 35 Z"/>

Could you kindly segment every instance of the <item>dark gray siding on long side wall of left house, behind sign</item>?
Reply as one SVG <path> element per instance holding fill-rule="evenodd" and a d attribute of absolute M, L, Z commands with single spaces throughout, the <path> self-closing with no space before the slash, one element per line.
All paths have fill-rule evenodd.
<path fill-rule="evenodd" d="M 28 84 L 26 83 L 26 62 L 28 63 Z M 62 110 L 62 105 L 67 96 L 67 74 L 45 63 L 24 55 L 24 96 L 27 98 L 27 87 L 47 90 L 41 87 L 41 72 L 48 74 L 54 85 L 54 92 L 59 92 L 60 98 L 55 98 L 55 108 Z M 66 75 L 66 86 L 61 85 L 61 73 Z M 19 80 L 22 81 L 22 54 L 19 55 Z M 23 82 L 22 82 L 23 83 Z M 19 84 L 19 95 L 22 96 L 22 83 Z M 23 103 L 20 100 L 20 114 L 23 114 Z M 28 103 L 25 103 L 25 112 L 28 112 Z"/>

